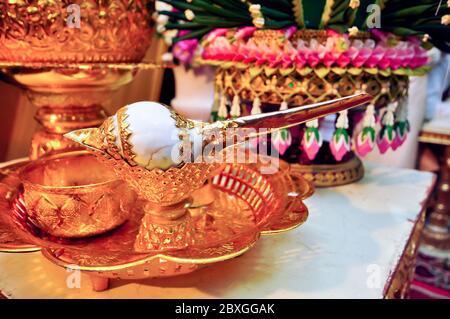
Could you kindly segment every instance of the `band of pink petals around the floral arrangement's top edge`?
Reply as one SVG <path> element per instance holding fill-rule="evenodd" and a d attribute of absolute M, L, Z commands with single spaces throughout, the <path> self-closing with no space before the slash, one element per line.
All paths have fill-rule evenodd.
<path fill-rule="evenodd" d="M 280 37 L 292 37 L 296 27 L 279 30 Z M 326 67 L 337 65 L 341 68 L 353 65 L 361 68 L 398 69 L 400 67 L 417 68 L 427 63 L 426 51 L 420 47 L 420 41 L 408 39 L 398 41 L 389 33 L 374 31 L 377 37 L 373 39 L 349 40 L 345 34 L 328 30 L 329 37 L 325 44 L 316 39 L 291 41 L 258 42 L 255 43 L 252 35 L 254 27 L 244 27 L 235 33 L 235 41 L 231 43 L 225 36 L 227 29 L 216 29 L 206 37 L 203 52 L 204 59 L 220 61 L 242 61 L 256 65 L 283 68 L 295 66 L 302 68 L 305 65 L 316 67 L 322 64 Z"/>

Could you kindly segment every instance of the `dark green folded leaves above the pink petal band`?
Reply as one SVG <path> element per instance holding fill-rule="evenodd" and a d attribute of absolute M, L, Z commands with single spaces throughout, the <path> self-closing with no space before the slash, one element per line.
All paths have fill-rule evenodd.
<path fill-rule="evenodd" d="M 368 20 L 379 19 L 377 29 L 400 37 L 429 37 L 437 48 L 450 52 L 450 8 L 436 0 L 161 0 L 175 10 L 159 11 L 168 16 L 166 30 L 187 30 L 174 43 L 200 39 L 216 28 L 256 27 L 281 29 L 333 29 L 351 27 L 368 31 Z M 187 14 L 189 13 L 189 14 Z M 261 24 L 262 23 L 262 24 Z"/>

